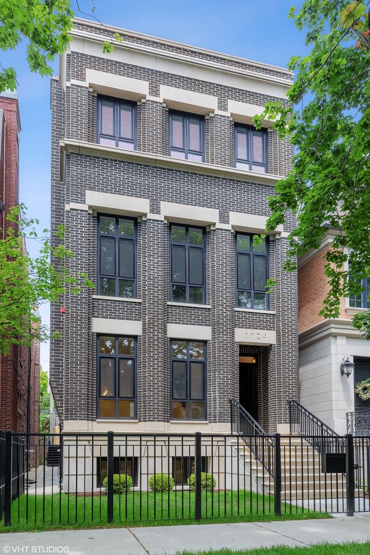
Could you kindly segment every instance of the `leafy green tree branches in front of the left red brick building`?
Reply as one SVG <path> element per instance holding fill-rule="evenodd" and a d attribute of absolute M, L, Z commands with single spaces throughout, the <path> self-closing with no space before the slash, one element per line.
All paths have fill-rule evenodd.
<path fill-rule="evenodd" d="M 48 339 L 48 329 L 36 314 L 39 304 L 58 301 L 67 286 L 74 294 L 82 286 L 94 287 L 87 274 L 75 275 L 69 270 L 66 263 L 73 258 L 72 251 L 63 245 L 52 247 L 47 229 L 37 237 L 33 225 L 38 220 L 27 219 L 23 205 L 11 208 L 7 220 L 11 225 L 0 238 L 0 353 L 4 355 L 12 345 L 29 346 L 34 339 Z M 26 235 L 40 241 L 40 252 L 34 260 L 26 256 Z M 63 239 L 63 226 L 58 226 L 57 235 Z M 54 337 L 60 337 L 60 332 Z"/>

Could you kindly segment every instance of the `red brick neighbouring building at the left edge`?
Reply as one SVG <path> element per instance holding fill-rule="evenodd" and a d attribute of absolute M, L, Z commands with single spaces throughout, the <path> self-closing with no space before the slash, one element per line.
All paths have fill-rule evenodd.
<path fill-rule="evenodd" d="M 0 200 L 5 209 L 0 226 L 11 225 L 6 216 L 10 206 L 19 204 L 19 117 L 18 95 L 0 94 Z M 40 346 L 14 345 L 9 355 L 0 357 L 0 430 L 39 431 Z"/>

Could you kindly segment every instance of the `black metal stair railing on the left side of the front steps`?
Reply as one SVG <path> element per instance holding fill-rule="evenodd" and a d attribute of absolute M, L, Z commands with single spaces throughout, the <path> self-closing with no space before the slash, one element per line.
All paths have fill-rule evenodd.
<path fill-rule="evenodd" d="M 273 478 L 273 438 L 235 398 L 230 399 L 230 409 L 231 433 L 237 433 L 242 438 L 257 461 Z"/>

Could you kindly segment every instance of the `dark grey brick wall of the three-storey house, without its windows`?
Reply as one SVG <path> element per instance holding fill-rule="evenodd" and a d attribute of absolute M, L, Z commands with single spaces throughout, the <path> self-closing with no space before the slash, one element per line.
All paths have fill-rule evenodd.
<path fill-rule="evenodd" d="M 230 225 L 229 213 L 267 218 L 270 214 L 267 196 L 273 193 L 277 181 L 269 175 L 285 174 L 291 167 L 293 153 L 286 140 L 279 140 L 276 132 L 269 130 L 266 177 L 259 174 L 254 178 L 251 172 L 232 174 L 235 116 L 232 119 L 227 110 L 229 100 L 260 107 L 268 100 L 283 98 L 283 94 L 281 97 L 270 94 L 275 90 L 270 83 L 277 83 L 283 90 L 292 76 L 287 70 L 265 64 L 139 33 L 119 32 L 125 45 L 130 45 L 130 52 L 135 53 L 137 48 L 140 57 L 140 48 L 145 47 L 149 54 L 150 49 L 153 53 L 159 50 L 163 59 L 169 57 L 167 61 L 172 69 L 166 72 L 163 68 L 134 65 L 132 56 L 126 62 L 119 45 L 116 46 L 117 59 L 114 59 L 115 54 L 104 56 L 102 37 L 113 31 L 108 28 L 103 32 L 83 20 L 75 22 L 73 41 L 61 60 L 64 77 L 61 72 L 59 79 L 52 80 L 52 231 L 55 232 L 57 225 L 65 225 L 65 245 L 74 253 L 70 268 L 75 273 L 87 273 L 97 285 L 97 213 L 107 214 L 109 210 L 85 204 L 86 191 L 149 199 L 147 214 L 133 213 L 138 217 L 138 299 L 104 298 L 97 295 L 97 290 L 84 288 L 78 296 L 68 292 L 60 299 L 60 305 L 52 306 L 52 331 L 60 330 L 63 334 L 63 339 L 52 340 L 50 347 L 50 380 L 59 417 L 66 431 L 180 430 L 176 423 L 170 422 L 171 337 L 168 326 L 170 329 L 170 326 L 183 325 L 200 326 L 199 329 L 210 329 L 211 333 L 206 360 L 209 428 L 202 423 L 202 430 L 228 431 L 230 427 L 229 398 L 239 396 L 239 343 L 235 341 L 235 330 L 276 332 L 276 343 L 271 345 L 267 342 L 256 345 L 251 339 L 243 344 L 244 349 L 257 356 L 259 421 L 269 431 L 283 429 L 279 426 L 288 422 L 287 401 L 298 398 L 299 391 L 296 276 L 281 270 L 287 249 L 286 235 L 294 228 L 295 221 L 289 216 L 283 232 L 270 236 L 270 277 L 278 280 L 278 286 L 270 295 L 270 310 L 235 310 L 235 229 Z M 78 47 L 82 34 L 88 37 L 91 45 L 84 52 Z M 99 46 L 101 54 L 97 56 Z M 217 71 L 224 67 L 230 79 L 237 83 L 240 75 L 255 79 L 254 89 L 261 90 L 256 92 L 231 87 L 230 83 L 202 80 L 198 74 L 191 78 L 187 70 L 182 69 L 184 62 L 180 60 L 176 66 L 177 62 L 170 55 L 195 65 L 208 64 L 211 69 L 214 66 Z M 178 73 L 175 73 L 176 67 Z M 137 108 L 138 153 L 150 154 L 146 162 L 129 158 L 129 153 L 121 157 L 115 152 L 117 149 L 110 147 L 105 150 L 99 147 L 95 152 L 97 92 L 104 92 L 104 86 L 100 85 L 97 90 L 94 84 L 87 83 L 87 70 L 148 83 L 148 98 L 138 98 Z M 232 72 L 236 72 L 235 76 Z M 204 113 L 205 164 L 185 168 L 181 165 L 183 161 L 168 157 L 171 105 L 160 98 L 161 86 L 217 97 L 218 109 Z M 113 96 L 108 85 L 106 94 Z M 120 97 L 125 98 L 124 92 Z M 200 113 L 196 107 L 195 113 Z M 85 144 L 87 150 L 80 149 L 80 144 Z M 168 164 L 165 157 L 169 159 Z M 225 171 L 230 168 L 230 175 L 217 173 L 221 166 Z M 161 203 L 219 211 L 215 224 L 203 224 L 206 229 L 206 306 L 170 302 L 169 223 L 178 220 L 161 214 Z M 112 209 L 112 213 L 120 212 Z M 196 220 L 192 223 L 199 225 Z M 57 244 L 55 235 L 53 240 Z M 60 306 L 65 306 L 64 316 L 60 314 Z M 97 334 L 93 321 L 103 319 L 118 323 L 141 322 L 137 341 L 137 421 L 97 421 Z M 183 339 L 193 338 L 184 336 Z M 201 423 L 183 421 L 181 425 L 181 430 L 186 427 L 188 431 L 195 431 Z"/>

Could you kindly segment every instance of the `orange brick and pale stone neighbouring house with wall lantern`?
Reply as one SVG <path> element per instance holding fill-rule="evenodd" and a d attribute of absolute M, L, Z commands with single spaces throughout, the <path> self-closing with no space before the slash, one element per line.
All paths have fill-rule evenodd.
<path fill-rule="evenodd" d="M 341 435 L 347 433 L 347 414 L 348 431 L 368 435 L 369 416 L 363 410 L 370 409 L 370 401 L 362 401 L 354 387 L 370 377 L 370 345 L 352 327 L 353 315 L 368 308 L 368 279 L 363 280 L 365 290 L 361 295 L 341 299 L 338 319 L 325 320 L 318 315 L 329 292 L 324 256 L 335 233 L 329 230 L 320 249 L 311 249 L 298 260 L 301 403 Z M 348 379 L 340 372 L 340 365 L 347 359 L 354 363 Z"/>

